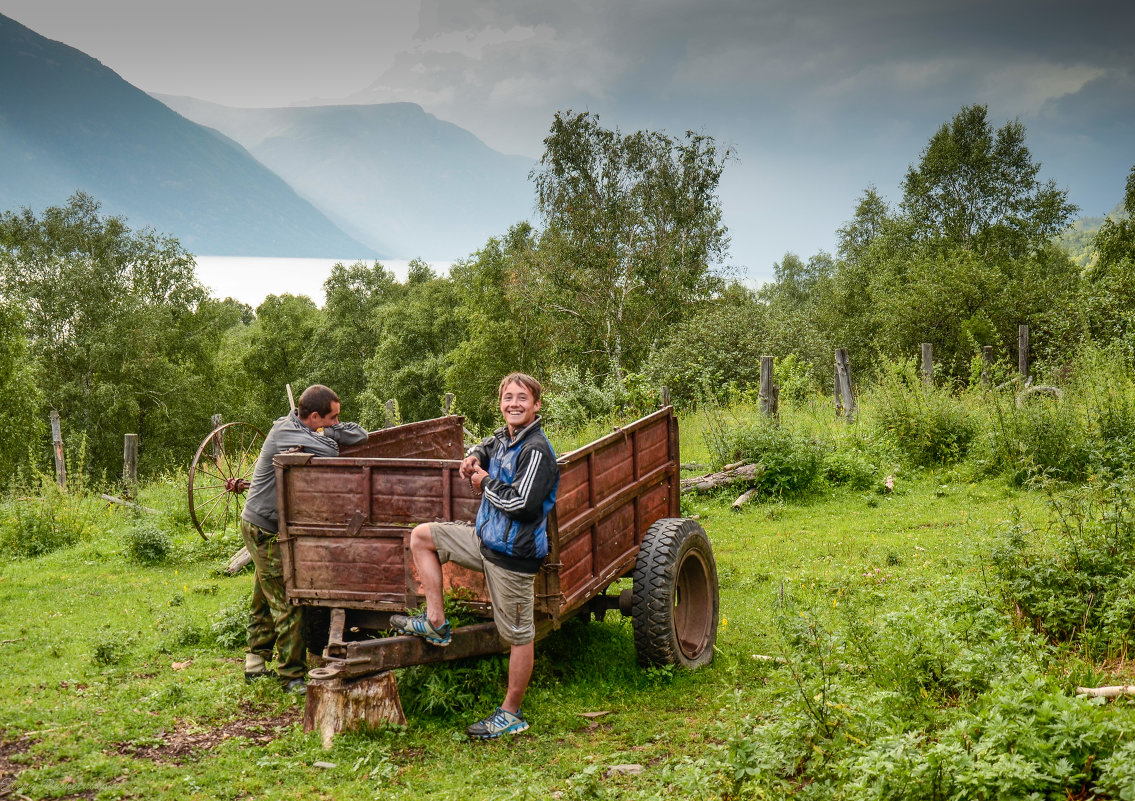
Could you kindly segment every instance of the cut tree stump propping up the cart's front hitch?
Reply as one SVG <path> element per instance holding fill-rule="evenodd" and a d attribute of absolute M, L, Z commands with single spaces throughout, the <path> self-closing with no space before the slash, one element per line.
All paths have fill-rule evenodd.
<path fill-rule="evenodd" d="M 318 731 L 325 749 L 331 748 L 339 732 L 387 723 L 406 723 L 393 671 L 361 678 L 312 678 L 308 682 L 303 731 Z"/>

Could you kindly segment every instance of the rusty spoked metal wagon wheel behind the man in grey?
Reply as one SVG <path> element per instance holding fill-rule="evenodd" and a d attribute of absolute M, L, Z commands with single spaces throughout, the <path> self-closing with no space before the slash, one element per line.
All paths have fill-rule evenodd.
<path fill-rule="evenodd" d="M 190 517 L 197 533 L 241 524 L 244 494 L 264 435 L 252 423 L 225 423 L 205 437 L 190 467 Z"/>

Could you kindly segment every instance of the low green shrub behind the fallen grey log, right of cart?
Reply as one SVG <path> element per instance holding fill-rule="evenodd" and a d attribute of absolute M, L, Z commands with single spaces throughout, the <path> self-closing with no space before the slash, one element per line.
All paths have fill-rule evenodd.
<path fill-rule="evenodd" d="M 709 429 L 706 444 L 714 465 L 760 463 L 764 473 L 754 481 L 763 494 L 792 496 L 804 492 L 819 475 L 824 448 L 816 440 L 792 433 L 775 421 L 756 420 Z"/>

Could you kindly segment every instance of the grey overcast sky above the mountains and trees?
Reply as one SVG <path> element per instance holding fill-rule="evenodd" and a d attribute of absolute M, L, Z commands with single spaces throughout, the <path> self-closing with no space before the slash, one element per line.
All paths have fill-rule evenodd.
<path fill-rule="evenodd" d="M 237 107 L 411 101 L 538 158 L 557 109 L 737 151 L 732 261 L 831 250 L 856 197 L 898 200 L 964 104 L 1019 118 L 1085 214 L 1135 165 L 1126 0 L 0 0 L 148 92 Z M 404 254 L 406 258 L 413 254 Z M 461 256 L 464 254 L 454 254 Z"/>

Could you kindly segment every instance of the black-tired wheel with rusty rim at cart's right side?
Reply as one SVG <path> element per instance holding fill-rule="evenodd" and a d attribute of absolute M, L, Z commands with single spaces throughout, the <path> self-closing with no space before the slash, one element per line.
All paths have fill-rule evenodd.
<path fill-rule="evenodd" d="M 717 565 L 705 530 L 666 517 L 649 528 L 634 562 L 631 623 L 640 665 L 688 669 L 713 661 Z"/>

